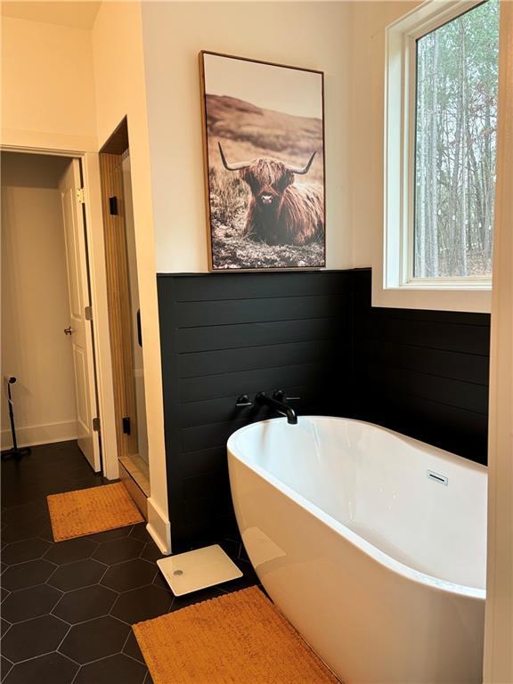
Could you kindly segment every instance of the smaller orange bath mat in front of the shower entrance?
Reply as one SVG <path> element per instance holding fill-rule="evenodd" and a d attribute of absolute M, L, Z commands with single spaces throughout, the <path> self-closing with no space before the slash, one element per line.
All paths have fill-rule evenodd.
<path fill-rule="evenodd" d="M 142 523 L 144 519 L 121 482 L 51 494 L 46 500 L 55 542 Z"/>

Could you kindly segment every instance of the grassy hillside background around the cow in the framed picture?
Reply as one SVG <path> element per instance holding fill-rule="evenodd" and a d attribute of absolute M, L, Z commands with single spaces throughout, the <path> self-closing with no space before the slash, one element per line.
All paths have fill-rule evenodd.
<path fill-rule="evenodd" d="M 221 143 L 230 163 L 272 157 L 304 167 L 316 152 L 308 173 L 295 183 L 323 186 L 322 120 L 265 110 L 250 102 L 206 95 L 208 183 L 214 265 L 231 268 L 301 268 L 324 265 L 324 240 L 307 245 L 269 245 L 244 235 L 250 191 L 239 173 L 227 171 Z"/>

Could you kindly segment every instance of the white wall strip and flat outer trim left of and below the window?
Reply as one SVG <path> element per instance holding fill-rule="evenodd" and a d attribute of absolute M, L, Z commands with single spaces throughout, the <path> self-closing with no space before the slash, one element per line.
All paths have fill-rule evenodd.
<path fill-rule="evenodd" d="M 356 268 L 372 266 L 372 304 L 375 306 L 489 312 L 489 289 L 383 289 L 385 29 L 419 4 L 418 0 L 353 3 L 349 154 L 353 198 L 351 264 Z"/>

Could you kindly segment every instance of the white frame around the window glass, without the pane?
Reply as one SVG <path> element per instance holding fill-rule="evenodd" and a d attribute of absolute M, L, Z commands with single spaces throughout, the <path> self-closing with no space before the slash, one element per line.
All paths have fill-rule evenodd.
<path fill-rule="evenodd" d="M 482 3 L 430 0 L 386 29 L 384 289 L 465 290 L 476 294 L 492 289 L 492 277 L 413 277 L 416 41 Z"/>

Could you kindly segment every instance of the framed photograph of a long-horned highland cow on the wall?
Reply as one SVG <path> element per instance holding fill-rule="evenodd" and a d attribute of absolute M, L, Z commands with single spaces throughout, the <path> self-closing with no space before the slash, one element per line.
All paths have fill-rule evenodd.
<path fill-rule="evenodd" d="M 210 269 L 324 266 L 322 72 L 199 61 Z"/>

